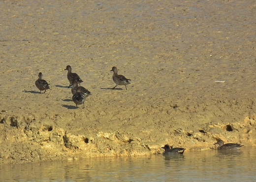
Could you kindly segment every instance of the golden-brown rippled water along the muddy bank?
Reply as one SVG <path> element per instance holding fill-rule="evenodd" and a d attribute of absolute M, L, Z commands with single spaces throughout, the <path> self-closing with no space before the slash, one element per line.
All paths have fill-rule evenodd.
<path fill-rule="evenodd" d="M 0 182 L 255 181 L 256 149 L 0 165 Z"/>

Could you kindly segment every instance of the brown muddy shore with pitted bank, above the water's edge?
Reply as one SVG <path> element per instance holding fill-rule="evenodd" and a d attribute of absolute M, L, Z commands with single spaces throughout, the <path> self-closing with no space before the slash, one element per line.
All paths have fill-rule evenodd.
<path fill-rule="evenodd" d="M 0 163 L 256 145 L 254 0 L 6 0 L 0 12 Z M 66 65 L 92 92 L 85 109 Z M 128 90 L 110 89 L 112 66 Z"/>

